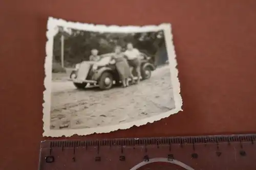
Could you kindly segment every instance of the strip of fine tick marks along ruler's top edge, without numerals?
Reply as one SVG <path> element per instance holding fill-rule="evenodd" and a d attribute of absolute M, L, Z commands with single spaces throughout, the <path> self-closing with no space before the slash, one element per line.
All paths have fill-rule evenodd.
<path fill-rule="evenodd" d="M 207 144 L 216 143 L 217 146 L 220 142 L 254 142 L 256 134 L 246 135 L 216 135 L 216 136 L 188 136 L 188 137 L 153 137 L 153 138 L 118 138 L 118 139 L 102 139 L 102 140 L 46 140 L 41 142 L 41 148 L 76 148 L 94 146 L 134 146 L 135 145 L 157 145 L 160 144 Z M 195 146 L 194 146 L 195 147 Z"/>

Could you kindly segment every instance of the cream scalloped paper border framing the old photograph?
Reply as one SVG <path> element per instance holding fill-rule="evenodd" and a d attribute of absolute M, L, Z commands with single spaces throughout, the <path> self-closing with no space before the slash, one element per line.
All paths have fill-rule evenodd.
<path fill-rule="evenodd" d="M 173 84 L 173 93 L 175 100 L 175 109 L 168 112 L 160 113 L 158 115 L 144 118 L 141 120 L 136 120 L 130 123 L 123 123 L 119 125 L 88 128 L 88 129 L 68 129 L 68 130 L 52 130 L 50 129 L 50 113 L 51 113 L 51 79 L 52 79 L 52 54 L 53 54 L 53 38 L 57 33 L 56 27 L 62 26 L 66 28 L 73 28 L 77 30 L 84 31 L 94 31 L 94 32 L 115 32 L 115 33 L 135 33 L 135 32 L 154 32 L 154 31 L 164 31 L 167 54 L 169 59 L 169 67 L 171 73 L 171 80 Z M 133 126 L 141 126 L 147 123 L 153 123 L 162 118 L 168 117 L 172 114 L 178 113 L 182 110 L 182 98 L 180 95 L 180 82 L 178 79 L 178 69 L 176 54 L 173 44 L 172 29 L 170 23 L 162 23 L 161 25 L 154 26 L 105 26 L 105 25 L 93 25 L 88 23 L 79 23 L 65 21 L 63 19 L 56 19 L 49 17 L 47 23 L 47 43 L 46 43 L 46 59 L 45 59 L 45 80 L 44 85 L 46 90 L 44 91 L 44 103 L 43 106 L 43 121 L 44 121 L 44 133 L 43 136 L 50 137 L 61 137 L 61 136 L 72 136 L 72 135 L 89 135 L 93 133 L 109 133 L 119 129 L 129 129 Z"/>

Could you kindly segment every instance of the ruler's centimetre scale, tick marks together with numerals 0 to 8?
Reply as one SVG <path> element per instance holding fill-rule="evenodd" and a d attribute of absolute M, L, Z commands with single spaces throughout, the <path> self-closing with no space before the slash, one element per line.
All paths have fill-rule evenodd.
<path fill-rule="evenodd" d="M 102 139 L 102 140 L 50 140 L 50 141 L 42 141 L 41 149 L 48 148 L 49 155 L 46 158 L 46 162 L 53 162 L 54 157 L 52 155 L 53 148 L 61 148 L 62 151 L 65 148 L 73 148 L 73 154 L 75 155 L 76 148 L 88 148 L 90 146 L 97 147 L 97 154 L 99 154 L 101 146 L 109 146 L 109 147 L 117 147 L 120 146 L 121 153 L 123 153 L 124 146 L 132 146 L 136 147 L 141 145 L 144 147 L 145 153 L 147 153 L 147 145 L 156 145 L 159 148 L 159 145 L 168 144 L 169 151 L 172 149 L 172 144 L 179 144 L 181 148 L 183 148 L 184 144 L 192 144 L 193 151 L 195 151 L 195 144 L 207 144 L 207 143 L 216 143 L 217 145 L 217 156 L 221 155 L 219 150 L 219 143 L 227 142 L 230 145 L 231 142 L 240 142 L 240 147 L 243 149 L 243 142 L 253 142 L 256 140 L 256 134 L 249 135 L 226 135 L 226 136 L 190 136 L 190 137 L 160 137 L 160 138 L 120 138 L 120 139 Z M 45 145 L 46 144 L 46 145 Z M 241 156 L 244 156 L 246 153 L 244 151 L 240 152 Z M 168 159 L 173 159 L 173 154 L 168 155 Z M 196 153 L 191 154 L 192 158 L 197 158 L 198 155 Z M 148 160 L 149 158 L 145 155 L 144 160 Z M 75 158 L 73 158 L 75 161 Z M 119 157 L 119 160 L 125 160 L 125 157 L 122 155 Z M 95 157 L 95 161 L 100 161 L 100 157 Z"/>

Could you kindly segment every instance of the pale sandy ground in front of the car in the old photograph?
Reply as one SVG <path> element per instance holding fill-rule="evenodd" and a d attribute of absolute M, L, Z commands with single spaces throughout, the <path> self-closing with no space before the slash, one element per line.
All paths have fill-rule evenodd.
<path fill-rule="evenodd" d="M 51 128 L 109 126 L 150 117 L 175 107 L 169 67 L 127 88 L 77 90 L 71 81 L 53 81 Z"/>

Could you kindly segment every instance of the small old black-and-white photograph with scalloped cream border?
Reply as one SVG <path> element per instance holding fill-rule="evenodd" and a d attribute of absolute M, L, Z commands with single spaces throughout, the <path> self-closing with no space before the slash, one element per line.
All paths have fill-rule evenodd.
<path fill-rule="evenodd" d="M 169 24 L 103 26 L 49 18 L 44 136 L 106 133 L 181 111 Z"/>

